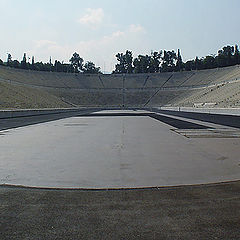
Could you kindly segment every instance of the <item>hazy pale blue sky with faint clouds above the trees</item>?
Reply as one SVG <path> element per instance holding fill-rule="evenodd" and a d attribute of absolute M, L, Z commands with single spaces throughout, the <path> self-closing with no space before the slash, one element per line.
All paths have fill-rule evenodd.
<path fill-rule="evenodd" d="M 115 54 L 181 49 L 184 60 L 240 44 L 239 0 L 0 0 L 0 58 L 68 62 L 73 52 L 111 71 Z"/>

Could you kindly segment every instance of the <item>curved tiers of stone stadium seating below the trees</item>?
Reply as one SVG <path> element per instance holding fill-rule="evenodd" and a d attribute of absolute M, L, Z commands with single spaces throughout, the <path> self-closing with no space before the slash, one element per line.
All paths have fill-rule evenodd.
<path fill-rule="evenodd" d="M 189 72 L 94 75 L 0 66 L 0 83 L 12 89 L 12 95 L 16 95 L 20 88 L 27 88 L 29 93 L 32 89 L 35 94 L 36 91 L 40 91 L 38 94 L 44 92 L 68 107 L 69 104 L 115 107 L 240 106 L 239 65 Z M 3 85 L 0 86 L 1 93 L 2 89 Z M 8 107 L 23 105 L 10 101 L 11 94 L 8 98 L 6 94 L 1 97 L 1 107 L 4 104 Z M 44 104 L 47 106 L 46 102 Z"/>

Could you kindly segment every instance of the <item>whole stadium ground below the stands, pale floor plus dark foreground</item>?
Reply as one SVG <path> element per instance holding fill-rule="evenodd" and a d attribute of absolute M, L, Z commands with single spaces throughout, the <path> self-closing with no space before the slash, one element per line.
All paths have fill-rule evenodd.
<path fill-rule="evenodd" d="M 240 239 L 240 181 L 229 182 L 240 179 L 239 129 L 152 113 L 69 117 L 1 131 L 1 240 Z M 227 182 L 168 186 L 213 181 Z M 97 190 L 136 186 L 159 187 Z"/>

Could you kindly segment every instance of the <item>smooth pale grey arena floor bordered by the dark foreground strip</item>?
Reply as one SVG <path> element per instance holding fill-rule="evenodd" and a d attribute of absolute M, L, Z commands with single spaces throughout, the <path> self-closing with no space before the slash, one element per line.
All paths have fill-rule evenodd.
<path fill-rule="evenodd" d="M 177 131 L 189 126 L 207 129 L 146 111 L 102 111 L 1 131 L 0 184 L 105 189 L 240 179 L 239 138 Z"/>

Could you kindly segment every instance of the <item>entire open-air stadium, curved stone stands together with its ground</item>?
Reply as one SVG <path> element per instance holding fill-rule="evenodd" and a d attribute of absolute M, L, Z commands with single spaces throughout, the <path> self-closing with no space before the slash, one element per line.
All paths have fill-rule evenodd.
<path fill-rule="evenodd" d="M 49 221 L 64 239 L 99 231 L 151 238 L 158 227 L 172 239 L 179 234 L 174 224 L 192 239 L 206 225 L 206 237 L 237 236 L 239 77 L 239 65 L 108 75 L 0 67 L 3 239 L 49 238 L 53 233 L 42 229 Z M 202 220 L 193 224 L 196 214 Z M 150 232 L 137 230 L 150 219 Z"/>

